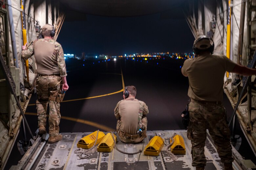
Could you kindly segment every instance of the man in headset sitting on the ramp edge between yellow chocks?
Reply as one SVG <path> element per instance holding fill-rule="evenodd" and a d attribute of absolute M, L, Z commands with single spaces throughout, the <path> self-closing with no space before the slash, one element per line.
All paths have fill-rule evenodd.
<path fill-rule="evenodd" d="M 128 91 L 128 95 L 125 95 Z M 137 99 L 135 86 L 126 86 L 123 99 L 114 110 L 117 118 L 117 133 L 122 142 L 138 143 L 147 137 L 148 106 Z M 142 133 L 137 133 L 139 129 Z"/>

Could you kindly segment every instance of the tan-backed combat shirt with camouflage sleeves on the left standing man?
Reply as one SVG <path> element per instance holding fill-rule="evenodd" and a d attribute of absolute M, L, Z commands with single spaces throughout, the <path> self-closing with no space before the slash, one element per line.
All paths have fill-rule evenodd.
<path fill-rule="evenodd" d="M 67 76 L 63 49 L 53 39 L 35 40 L 27 46 L 26 50 L 21 51 L 21 55 L 25 60 L 32 55 L 35 56 L 37 74 Z"/>

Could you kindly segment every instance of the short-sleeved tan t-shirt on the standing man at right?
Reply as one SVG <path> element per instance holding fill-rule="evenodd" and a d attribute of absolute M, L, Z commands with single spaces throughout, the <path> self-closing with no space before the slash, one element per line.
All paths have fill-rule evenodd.
<path fill-rule="evenodd" d="M 188 76 L 188 96 L 200 101 L 222 101 L 225 72 L 231 72 L 235 65 L 225 56 L 210 54 L 185 60 L 181 72 Z"/>

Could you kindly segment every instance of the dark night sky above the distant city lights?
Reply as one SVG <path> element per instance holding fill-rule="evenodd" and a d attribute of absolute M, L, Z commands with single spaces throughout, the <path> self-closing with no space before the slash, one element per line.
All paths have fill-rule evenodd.
<path fill-rule="evenodd" d="M 87 15 L 86 21 L 65 22 L 57 41 L 64 53 L 124 55 L 151 52 L 192 52 L 194 37 L 185 19 Z"/>

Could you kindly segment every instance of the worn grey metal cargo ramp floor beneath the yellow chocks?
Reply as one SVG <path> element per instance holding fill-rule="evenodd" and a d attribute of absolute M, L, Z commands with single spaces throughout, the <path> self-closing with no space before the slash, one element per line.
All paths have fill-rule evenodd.
<path fill-rule="evenodd" d="M 167 146 L 170 144 L 170 138 L 176 133 L 184 139 L 186 154 L 176 155 L 178 159 L 173 161 L 166 152 Z M 82 154 L 85 159 L 80 159 L 77 150 L 77 142 L 91 134 L 85 133 L 62 133 L 63 139 L 59 142 L 49 144 L 47 141 L 38 137 L 32 147 L 26 152 L 18 165 L 12 166 L 11 169 L 87 169 L 87 170 L 179 170 L 179 169 L 195 169 L 192 167 L 191 142 L 187 139 L 186 130 L 166 130 L 166 131 L 147 131 L 147 138 L 143 142 L 137 144 L 123 143 L 117 135 L 116 147 L 123 151 L 134 153 L 142 150 L 141 153 L 128 155 L 117 151 L 115 148 L 111 152 L 97 152 L 97 147 L 93 147 Z M 104 134 L 107 134 L 104 132 Z M 154 136 L 160 136 L 164 145 L 158 156 L 144 155 L 144 149 Z M 47 134 L 45 138 L 47 139 Z M 86 150 L 86 149 L 85 149 Z M 170 150 L 170 148 L 169 148 Z M 233 148 L 234 169 L 251 169 L 256 168 L 250 160 L 243 160 L 240 154 Z M 212 139 L 207 134 L 205 142 L 205 156 L 207 159 L 207 170 L 224 169 L 224 164 L 218 157 L 216 148 Z"/>

